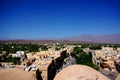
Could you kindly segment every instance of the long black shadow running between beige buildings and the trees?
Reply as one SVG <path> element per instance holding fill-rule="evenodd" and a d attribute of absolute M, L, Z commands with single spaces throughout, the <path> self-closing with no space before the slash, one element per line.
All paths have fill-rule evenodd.
<path fill-rule="evenodd" d="M 54 79 L 56 71 L 60 69 L 60 67 L 63 65 L 64 59 L 69 56 L 69 53 L 66 52 L 66 50 L 61 52 L 60 57 L 56 58 L 55 60 L 52 60 L 52 62 L 48 66 L 48 80 Z"/>

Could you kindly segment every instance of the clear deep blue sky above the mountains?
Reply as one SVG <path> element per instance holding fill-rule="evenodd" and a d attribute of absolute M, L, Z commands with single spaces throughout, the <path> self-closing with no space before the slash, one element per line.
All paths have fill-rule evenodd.
<path fill-rule="evenodd" d="M 120 0 L 0 0 L 0 39 L 120 33 Z"/>

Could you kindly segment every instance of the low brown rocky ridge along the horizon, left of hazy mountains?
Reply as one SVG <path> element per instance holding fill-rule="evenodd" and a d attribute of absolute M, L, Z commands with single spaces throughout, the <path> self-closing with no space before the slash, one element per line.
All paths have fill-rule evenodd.
<path fill-rule="evenodd" d="M 70 40 L 0 40 L 0 44 L 79 44 L 79 43 L 90 43 L 85 41 L 70 41 Z"/>

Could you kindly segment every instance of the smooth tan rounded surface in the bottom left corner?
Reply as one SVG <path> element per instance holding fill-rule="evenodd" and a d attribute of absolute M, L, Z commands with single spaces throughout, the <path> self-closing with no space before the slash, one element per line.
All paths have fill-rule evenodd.
<path fill-rule="evenodd" d="M 0 80 L 36 80 L 32 73 L 17 68 L 0 69 Z"/>

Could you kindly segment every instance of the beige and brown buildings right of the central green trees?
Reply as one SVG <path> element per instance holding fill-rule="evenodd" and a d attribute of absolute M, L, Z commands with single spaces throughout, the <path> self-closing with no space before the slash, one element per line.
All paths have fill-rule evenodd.
<path fill-rule="evenodd" d="M 120 71 L 120 48 L 102 47 L 91 50 L 93 63 L 107 71 L 106 74 L 117 74 Z"/>

